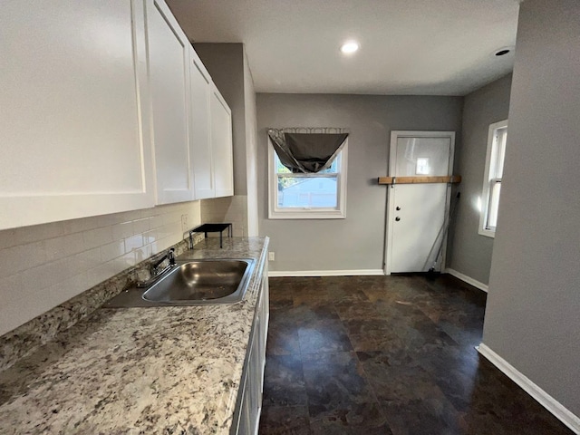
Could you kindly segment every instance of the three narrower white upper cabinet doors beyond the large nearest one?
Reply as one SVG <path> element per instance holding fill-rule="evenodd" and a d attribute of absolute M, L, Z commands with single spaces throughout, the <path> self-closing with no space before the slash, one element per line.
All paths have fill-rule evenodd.
<path fill-rule="evenodd" d="M 147 0 L 157 203 L 234 194 L 227 102 L 162 0 Z"/>

